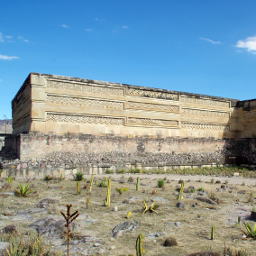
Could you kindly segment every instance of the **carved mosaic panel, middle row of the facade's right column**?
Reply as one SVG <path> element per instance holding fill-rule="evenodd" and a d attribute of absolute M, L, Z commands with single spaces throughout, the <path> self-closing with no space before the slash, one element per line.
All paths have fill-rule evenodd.
<path fill-rule="evenodd" d="M 182 108 L 181 114 L 189 115 L 189 116 L 230 118 L 230 113 L 228 112 L 209 111 L 209 110 L 192 109 L 192 108 Z"/>

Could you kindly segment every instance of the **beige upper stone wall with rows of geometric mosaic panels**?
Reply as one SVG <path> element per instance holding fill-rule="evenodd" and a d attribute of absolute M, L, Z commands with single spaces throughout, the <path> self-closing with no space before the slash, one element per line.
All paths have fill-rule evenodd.
<path fill-rule="evenodd" d="M 234 138 L 237 100 L 32 73 L 13 100 L 14 134 Z"/>

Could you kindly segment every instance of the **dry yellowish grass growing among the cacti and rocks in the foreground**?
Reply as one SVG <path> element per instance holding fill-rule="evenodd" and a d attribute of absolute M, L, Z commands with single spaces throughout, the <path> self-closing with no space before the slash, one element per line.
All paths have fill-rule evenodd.
<path fill-rule="evenodd" d="M 138 175 L 134 175 L 134 177 Z M 189 197 L 191 193 L 183 193 L 183 202 L 185 203 L 185 209 L 177 208 L 177 191 L 176 187 L 180 187 L 178 181 L 169 180 L 165 184 L 165 189 L 158 186 L 158 178 L 152 176 L 152 178 L 143 178 L 140 174 L 140 191 L 136 191 L 136 178 L 133 178 L 133 182 L 128 182 L 130 175 L 124 175 L 122 178 L 122 184 L 119 183 L 118 178 L 112 178 L 112 197 L 111 206 L 105 207 L 104 200 L 106 195 L 106 187 L 98 187 L 95 184 L 92 187 L 92 192 L 89 193 L 88 189 L 81 188 L 81 194 L 77 195 L 77 182 L 74 180 L 62 180 L 59 183 L 53 183 L 53 181 L 45 182 L 43 180 L 32 180 L 30 185 L 32 189 L 39 191 L 38 196 L 30 197 L 8 197 L 1 199 L 0 204 L 0 228 L 5 227 L 7 224 L 14 224 L 12 218 L 15 213 L 22 209 L 29 209 L 30 207 L 36 207 L 36 204 L 45 197 L 50 197 L 57 200 L 50 205 L 50 209 L 45 215 L 32 215 L 35 219 L 41 219 L 47 215 L 53 215 L 54 217 L 61 218 L 60 211 L 66 211 L 66 205 L 72 204 L 73 210 L 78 210 L 79 214 L 87 213 L 91 218 L 98 220 L 94 224 L 85 226 L 82 219 L 76 220 L 81 225 L 81 229 L 78 233 L 83 235 L 94 235 L 101 241 L 105 248 L 105 252 L 101 255 L 128 255 L 130 253 L 135 254 L 135 242 L 139 233 L 144 234 L 144 249 L 146 255 L 180 255 L 185 256 L 188 253 L 197 251 L 224 251 L 224 242 L 226 247 L 233 248 L 235 250 L 246 250 L 251 255 L 255 255 L 253 247 L 256 246 L 254 240 L 243 240 L 241 230 L 234 228 L 234 221 L 237 221 L 238 215 L 235 215 L 235 211 L 231 213 L 231 209 L 235 209 L 239 206 L 251 206 L 248 202 L 248 196 L 253 193 L 256 195 L 256 187 L 244 187 L 227 185 L 226 190 L 217 191 L 216 188 L 220 188 L 221 184 L 215 183 L 198 183 L 197 181 L 185 180 L 185 188 L 194 186 L 196 191 L 194 197 Z M 108 175 L 105 176 L 108 178 Z M 114 175 L 113 175 L 114 177 Z M 97 177 L 95 176 L 95 180 Z M 131 179 L 131 178 L 130 178 Z M 103 178 L 98 180 L 98 184 Z M 124 180 L 124 181 L 123 181 Z M 123 185 L 124 182 L 124 185 Z M 21 182 L 23 185 L 25 182 Z M 84 187 L 85 182 L 81 182 L 80 187 Z M 17 187 L 18 182 L 14 181 L 13 187 Z M 129 187 L 127 192 L 119 195 L 115 191 L 115 187 Z M 59 188 L 56 188 L 59 187 Z M 197 193 L 198 187 L 203 187 L 204 191 L 208 193 L 208 196 L 213 200 L 216 198 L 221 199 L 220 204 L 215 206 L 206 204 L 205 202 L 199 202 L 195 197 L 199 197 Z M 230 188 L 232 187 L 232 189 Z M 234 187 L 234 188 L 233 188 Z M 153 189 L 156 193 L 152 193 Z M 239 190 L 247 189 L 248 193 L 239 194 Z M 230 192 L 232 191 L 232 193 Z M 114 195 L 114 197 L 113 197 Z M 91 204 L 87 209 L 87 198 L 91 198 Z M 123 204 L 125 198 L 138 197 L 134 203 Z M 146 213 L 142 215 L 143 200 L 149 202 L 151 206 L 152 198 L 161 197 L 168 199 L 166 202 L 160 202 L 157 200 L 156 205 L 160 206 L 157 209 L 158 214 Z M 198 204 L 197 207 L 192 207 L 194 204 Z M 118 207 L 118 211 L 113 211 L 114 206 Z M 112 237 L 112 229 L 117 224 L 122 224 L 127 221 L 125 218 L 128 212 L 132 212 L 131 220 L 138 221 L 141 227 L 131 233 L 123 233 L 123 236 L 114 239 Z M 250 211 L 248 211 L 248 216 Z M 233 218 L 233 222 L 230 222 L 230 218 Z M 30 220 L 16 221 L 15 224 L 21 232 L 28 230 L 28 224 L 31 224 Z M 254 222 L 249 221 L 249 224 Z M 215 240 L 211 241 L 211 227 L 215 225 Z M 167 236 L 173 236 L 178 246 L 164 247 L 163 243 L 167 236 L 156 237 L 150 239 L 149 233 L 165 232 Z M 85 245 L 86 246 L 86 245 Z M 113 249 L 115 248 L 115 249 Z"/>

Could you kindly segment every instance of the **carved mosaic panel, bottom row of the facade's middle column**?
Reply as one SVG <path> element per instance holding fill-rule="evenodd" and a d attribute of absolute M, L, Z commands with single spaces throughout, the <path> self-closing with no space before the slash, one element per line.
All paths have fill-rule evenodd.
<path fill-rule="evenodd" d="M 178 121 L 176 120 L 135 118 L 135 117 L 129 117 L 127 123 L 140 124 L 140 125 L 178 126 Z"/>

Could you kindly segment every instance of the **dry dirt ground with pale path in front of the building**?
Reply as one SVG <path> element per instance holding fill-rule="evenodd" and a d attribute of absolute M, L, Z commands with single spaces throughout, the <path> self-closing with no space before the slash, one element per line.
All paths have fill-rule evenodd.
<path fill-rule="evenodd" d="M 104 206 L 106 187 L 99 187 L 99 183 L 111 176 L 111 204 Z M 133 177 L 129 182 L 128 178 Z M 140 189 L 136 191 L 136 178 L 140 178 Z M 90 176 L 84 176 L 89 180 Z M 164 178 L 163 188 L 157 187 L 158 179 Z M 131 179 L 131 178 L 130 178 Z M 182 202 L 185 208 L 178 208 L 177 195 L 180 187 L 179 179 L 185 181 L 185 191 Z M 219 180 L 220 183 L 216 183 Z M 97 182 L 97 185 L 96 185 Z M 8 191 L 14 191 L 18 184 L 26 184 L 24 180 L 14 180 Z M 219 177 L 190 177 L 172 175 L 95 175 L 92 192 L 89 193 L 87 181 L 81 181 L 81 193 L 77 195 L 77 182 L 72 179 L 62 180 L 58 183 L 35 179 L 29 181 L 32 189 L 38 190 L 37 196 L 30 197 L 0 197 L 0 229 L 8 224 L 15 224 L 22 231 L 28 231 L 28 225 L 46 216 L 63 219 L 60 211 L 66 213 L 66 205 L 72 204 L 71 212 L 78 210 L 80 217 L 76 220 L 79 229 L 74 233 L 91 238 L 91 243 L 85 242 L 73 245 L 81 250 L 73 255 L 136 255 L 135 243 L 137 236 L 144 235 L 143 247 L 146 255 L 180 255 L 197 251 L 224 251 L 230 247 L 233 250 L 246 250 L 255 255 L 256 240 L 245 239 L 242 230 L 243 224 L 234 227 L 238 216 L 242 222 L 255 224 L 250 220 L 251 209 L 255 205 L 255 179 L 219 178 Z M 128 187 L 122 195 L 115 188 Z M 189 188 L 190 187 L 190 188 Z M 194 190 L 195 189 L 195 190 Z M 152 194 L 152 192 L 155 194 Z M 198 191 L 200 190 L 200 191 Z M 3 191 L 2 191 L 3 192 Z M 186 192 L 186 193 L 185 193 Z M 30 210 L 44 198 L 55 199 L 45 213 L 29 214 L 28 217 L 17 215 L 21 210 Z M 91 204 L 87 209 L 87 198 Z M 211 198 L 213 205 L 202 202 L 198 197 Z M 155 213 L 142 215 L 143 201 L 149 206 L 155 201 L 159 208 Z M 116 207 L 117 206 L 117 211 Z M 115 208 L 115 209 L 114 209 Z M 131 218 L 126 219 L 128 212 Z M 28 212 L 29 213 L 29 212 Z M 31 216 L 31 217 L 29 217 Z M 89 222 L 87 222 L 87 219 Z M 140 227 L 114 238 L 112 230 L 118 224 L 131 221 L 138 222 Z M 211 229 L 215 226 L 215 240 L 212 241 Z M 174 237 L 178 245 L 165 247 L 163 243 L 169 236 Z M 51 243 L 52 249 L 63 248 Z M 58 247 L 59 246 L 59 247 Z M 87 246 L 91 252 L 85 251 Z M 253 254 L 254 253 L 254 254 Z"/>

